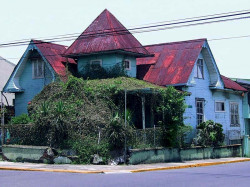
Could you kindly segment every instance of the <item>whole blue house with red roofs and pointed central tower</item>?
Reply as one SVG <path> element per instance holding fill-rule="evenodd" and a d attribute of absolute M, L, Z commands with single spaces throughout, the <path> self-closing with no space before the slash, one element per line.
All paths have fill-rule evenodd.
<path fill-rule="evenodd" d="M 4 87 L 16 95 L 16 115 L 27 112 L 28 102 L 46 84 L 66 77 L 66 64 L 77 65 L 81 75 L 88 65 L 109 69 L 118 64 L 130 77 L 189 92 L 186 124 L 195 128 L 206 120 L 221 123 L 228 143 L 245 134 L 242 108 L 247 90 L 220 74 L 206 39 L 142 46 L 104 10 L 68 48 L 31 41 Z M 152 127 L 152 113 L 141 100 L 142 126 Z"/>

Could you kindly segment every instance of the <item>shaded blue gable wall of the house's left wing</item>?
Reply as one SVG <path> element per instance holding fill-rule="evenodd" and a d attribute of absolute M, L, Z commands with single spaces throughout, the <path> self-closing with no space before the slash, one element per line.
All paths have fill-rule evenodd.
<path fill-rule="evenodd" d="M 24 92 L 15 93 L 15 116 L 27 113 L 28 102 L 33 99 L 35 95 L 40 93 L 45 85 L 49 84 L 53 78 L 52 73 L 45 65 L 45 78 L 32 78 L 32 63 L 28 60 L 25 64 L 23 72 L 19 79 L 19 84 Z"/>

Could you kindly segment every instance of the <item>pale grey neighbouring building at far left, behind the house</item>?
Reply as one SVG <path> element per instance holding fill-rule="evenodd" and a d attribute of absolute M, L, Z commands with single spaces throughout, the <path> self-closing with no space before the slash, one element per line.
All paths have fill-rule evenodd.
<path fill-rule="evenodd" d="M 0 57 L 0 91 L 2 91 L 4 85 L 8 81 L 13 69 L 15 68 L 15 64 L 9 62 L 8 60 Z M 15 95 L 12 93 L 6 93 L 3 97 L 4 105 L 13 105 L 13 100 L 15 99 Z M 7 99 L 7 101 L 6 101 Z M 0 100 L 1 104 L 1 100 Z"/>

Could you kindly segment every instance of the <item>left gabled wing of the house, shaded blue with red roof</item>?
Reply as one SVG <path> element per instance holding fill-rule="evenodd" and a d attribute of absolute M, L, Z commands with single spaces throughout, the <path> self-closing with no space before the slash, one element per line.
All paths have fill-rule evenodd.
<path fill-rule="evenodd" d="M 76 64 L 63 57 L 66 46 L 31 40 L 3 88 L 15 94 L 15 116 L 27 113 L 28 103 L 45 85 L 66 78 L 66 64 Z"/>

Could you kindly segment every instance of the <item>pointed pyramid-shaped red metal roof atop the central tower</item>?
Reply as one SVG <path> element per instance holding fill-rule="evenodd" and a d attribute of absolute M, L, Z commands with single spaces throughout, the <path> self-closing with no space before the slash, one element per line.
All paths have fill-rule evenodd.
<path fill-rule="evenodd" d="M 140 42 L 105 9 L 66 50 L 66 56 L 121 50 L 136 56 L 149 55 Z"/>

